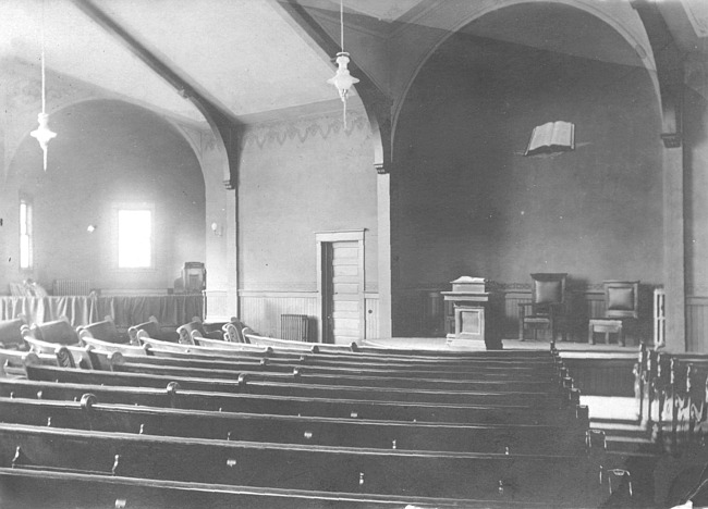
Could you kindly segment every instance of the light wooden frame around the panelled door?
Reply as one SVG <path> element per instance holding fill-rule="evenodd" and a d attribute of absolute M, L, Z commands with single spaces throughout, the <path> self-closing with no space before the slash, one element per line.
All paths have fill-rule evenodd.
<path fill-rule="evenodd" d="M 325 330 L 325 315 L 322 296 L 325 294 L 325 281 L 322 274 L 325 268 L 322 266 L 322 248 L 324 244 L 341 243 L 341 241 L 356 241 L 358 247 L 358 300 L 359 300 L 359 339 L 364 338 L 366 331 L 366 300 L 365 300 L 365 282 L 366 274 L 364 273 L 364 233 L 366 228 L 362 229 L 339 229 L 332 232 L 315 232 L 315 240 L 317 243 L 317 314 L 319 320 L 319 327 L 317 327 L 317 342 L 322 343 L 322 333 Z"/>

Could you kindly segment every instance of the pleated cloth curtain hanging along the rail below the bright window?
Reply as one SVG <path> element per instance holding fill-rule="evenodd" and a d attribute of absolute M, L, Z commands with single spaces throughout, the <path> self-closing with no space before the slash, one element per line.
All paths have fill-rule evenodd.
<path fill-rule="evenodd" d="M 0 320 L 20 314 L 26 316 L 27 323 L 66 316 L 74 327 L 109 315 L 119 328 L 146 322 L 154 315 L 160 324 L 176 327 L 191 322 L 193 316 L 203 316 L 204 299 L 200 295 L 0 297 Z"/>

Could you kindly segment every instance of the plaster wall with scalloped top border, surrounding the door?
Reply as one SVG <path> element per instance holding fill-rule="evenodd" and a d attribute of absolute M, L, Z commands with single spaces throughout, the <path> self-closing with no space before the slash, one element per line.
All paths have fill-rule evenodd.
<path fill-rule="evenodd" d="M 377 290 L 377 174 L 366 117 L 347 113 L 252 127 L 239 183 L 241 289 L 316 291 L 315 233 L 365 228 L 366 290 Z"/>

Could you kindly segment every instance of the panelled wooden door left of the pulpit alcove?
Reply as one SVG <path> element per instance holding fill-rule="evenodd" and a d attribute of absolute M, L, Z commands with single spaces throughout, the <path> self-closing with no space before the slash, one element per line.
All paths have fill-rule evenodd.
<path fill-rule="evenodd" d="M 322 243 L 322 342 L 347 344 L 362 337 L 359 243 Z"/>

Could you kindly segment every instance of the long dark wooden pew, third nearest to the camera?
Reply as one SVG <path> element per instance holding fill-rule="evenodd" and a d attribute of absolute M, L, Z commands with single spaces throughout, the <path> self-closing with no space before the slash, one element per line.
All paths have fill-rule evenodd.
<path fill-rule="evenodd" d="M 0 422 L 242 442 L 502 454 L 586 452 L 587 431 L 559 424 L 441 424 L 208 412 L 131 405 L 0 398 Z"/>

